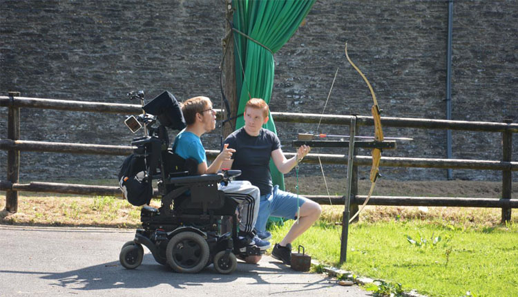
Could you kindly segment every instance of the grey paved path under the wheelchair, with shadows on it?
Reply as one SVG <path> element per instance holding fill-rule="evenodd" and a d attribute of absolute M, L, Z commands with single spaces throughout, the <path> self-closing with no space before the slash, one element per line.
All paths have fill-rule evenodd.
<path fill-rule="evenodd" d="M 238 261 L 230 275 L 207 267 L 176 274 L 144 248 L 135 270 L 119 264 L 134 231 L 0 225 L 0 296 L 370 296 L 319 274 L 291 270 L 270 257 Z"/>

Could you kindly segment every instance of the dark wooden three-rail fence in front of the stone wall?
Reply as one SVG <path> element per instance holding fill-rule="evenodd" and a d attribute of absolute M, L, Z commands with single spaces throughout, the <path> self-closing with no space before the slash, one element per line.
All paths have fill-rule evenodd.
<path fill-rule="evenodd" d="M 129 155 L 131 146 L 112 146 L 100 144 L 75 144 L 58 142 L 35 142 L 19 140 L 20 108 L 44 108 L 61 111 L 81 111 L 93 113 L 138 114 L 141 106 L 136 104 L 110 104 L 101 102 L 80 102 L 74 100 L 41 99 L 20 97 L 19 93 L 9 93 L 0 96 L 0 106 L 8 108 L 8 135 L 0 139 L 0 149 L 8 151 L 7 180 L 0 180 L 0 190 L 6 191 L 6 210 L 16 212 L 18 208 L 18 191 L 36 191 L 50 193 L 70 193 L 79 195 L 120 195 L 117 186 L 91 186 L 86 184 L 59 184 L 52 182 L 30 182 L 19 184 L 19 152 L 45 151 L 56 153 L 82 153 L 96 155 Z M 219 115 L 220 113 L 218 113 Z M 348 126 L 351 115 L 317 115 L 305 113 L 275 113 L 276 122 L 336 124 Z M 460 160 L 460 159 L 431 159 L 413 157 L 381 157 L 380 166 L 421 167 L 437 169 L 476 169 L 502 171 L 502 198 L 437 198 L 437 197 L 401 197 L 401 196 L 372 196 L 369 204 L 391 206 L 430 206 L 430 207 L 494 207 L 501 208 L 501 220 L 511 219 L 511 209 L 518 208 L 518 200 L 511 199 L 512 171 L 518 171 L 518 162 L 512 162 L 512 133 L 518 132 L 518 124 L 512 121 L 468 122 L 448 121 L 442 119 L 416 119 L 403 117 L 381 117 L 383 126 L 400 128 L 450 129 L 462 131 L 483 131 L 502 133 L 502 160 Z M 373 126 L 372 117 L 356 116 L 356 125 Z M 219 151 L 209 150 L 207 156 L 214 158 Z M 285 153 L 292 157 L 294 153 Z M 347 164 L 347 155 L 309 154 L 304 162 L 318 164 Z M 354 156 L 353 183 L 351 191 L 351 211 L 365 201 L 366 196 L 358 195 L 358 166 L 371 166 L 372 157 Z M 155 195 L 157 191 L 155 190 Z M 344 204 L 343 196 L 305 195 L 320 204 Z"/>

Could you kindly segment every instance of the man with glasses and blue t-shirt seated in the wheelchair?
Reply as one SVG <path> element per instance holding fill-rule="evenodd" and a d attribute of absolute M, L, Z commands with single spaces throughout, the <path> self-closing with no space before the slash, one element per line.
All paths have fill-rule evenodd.
<path fill-rule="evenodd" d="M 224 145 L 211 166 L 207 166 L 207 155 L 200 136 L 215 128 L 216 113 L 212 109 L 211 100 L 201 96 L 188 99 L 182 104 L 182 113 L 187 126 L 176 135 L 173 144 L 175 153 L 184 159 L 191 157 L 198 161 L 198 174 L 217 173 L 222 162 L 230 160 L 235 151 Z M 229 182 L 227 186 L 219 184 L 218 189 L 238 202 L 238 207 L 242 209 L 239 224 L 240 251 L 246 251 L 247 246 L 255 246 L 262 251 L 268 249 L 270 243 L 253 234 L 259 211 L 259 189 L 242 180 Z"/>

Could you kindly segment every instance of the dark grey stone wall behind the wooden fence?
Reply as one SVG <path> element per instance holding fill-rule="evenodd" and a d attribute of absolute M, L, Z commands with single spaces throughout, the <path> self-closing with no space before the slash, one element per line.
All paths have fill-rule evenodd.
<path fill-rule="evenodd" d="M 26 97 L 128 102 L 129 90 L 148 98 L 169 90 L 180 99 L 208 95 L 220 106 L 222 1 L 0 0 L 0 93 Z M 452 118 L 518 122 L 518 2 L 454 1 Z M 445 119 L 447 1 L 319 0 L 294 37 L 276 53 L 272 111 L 370 115 L 372 99 L 349 56 L 369 78 L 384 116 Z M 7 108 L 0 108 L 0 138 Z M 123 115 L 21 109 L 21 139 L 127 145 Z M 316 125 L 278 123 L 285 151 L 296 133 Z M 318 132 L 347 134 L 347 126 Z M 361 134 L 372 135 L 363 127 Z M 217 148 L 218 131 L 205 135 Z M 414 137 L 387 156 L 445 157 L 445 131 L 385 128 Z M 501 160 L 501 134 L 453 131 L 453 157 Z M 513 142 L 518 160 L 518 137 Z M 314 152 L 323 151 L 315 148 Z M 324 151 L 323 151 L 324 152 Z M 325 151 L 328 152 L 328 151 Z M 344 151 L 329 151 L 346 153 Z M 362 154 L 368 154 L 364 152 Z M 23 180 L 113 178 L 123 157 L 21 153 Z M 0 151 L 0 179 L 6 152 Z M 345 166 L 325 171 L 345 176 Z M 383 168 L 386 178 L 443 180 L 439 169 Z M 367 177 L 368 168 L 361 169 Z M 305 175 L 318 166 L 302 166 Z M 516 178 L 516 174 L 514 175 Z M 498 171 L 454 170 L 453 177 L 498 180 Z"/>

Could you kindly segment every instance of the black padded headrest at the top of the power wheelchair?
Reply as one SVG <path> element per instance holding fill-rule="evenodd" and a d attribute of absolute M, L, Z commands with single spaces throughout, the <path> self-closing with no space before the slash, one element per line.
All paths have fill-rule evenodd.
<path fill-rule="evenodd" d="M 180 104 L 176 101 L 175 96 L 168 91 L 164 91 L 164 93 L 153 98 L 142 109 L 146 113 L 156 115 L 158 122 L 167 128 L 182 130 L 186 126 Z"/>

